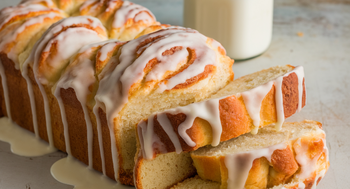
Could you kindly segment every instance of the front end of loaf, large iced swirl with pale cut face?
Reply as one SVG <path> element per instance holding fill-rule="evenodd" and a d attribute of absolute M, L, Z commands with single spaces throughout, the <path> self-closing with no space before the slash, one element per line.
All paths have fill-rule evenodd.
<path fill-rule="evenodd" d="M 109 128 L 117 145 L 112 146 L 116 178 L 133 184 L 135 125 L 153 112 L 203 100 L 223 88 L 233 79 L 233 60 L 217 41 L 191 29 L 141 36 L 123 45 L 114 60 L 119 60 L 115 69 L 100 80 L 94 113 L 98 127 Z"/>

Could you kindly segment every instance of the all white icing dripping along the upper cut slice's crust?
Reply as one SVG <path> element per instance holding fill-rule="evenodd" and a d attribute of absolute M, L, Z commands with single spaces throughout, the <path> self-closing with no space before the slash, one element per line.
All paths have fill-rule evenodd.
<path fill-rule="evenodd" d="M 237 93 L 235 95 L 237 98 L 240 96 L 243 97 L 247 112 L 250 115 L 251 119 L 253 120 L 254 128 L 252 128 L 252 131 L 251 131 L 252 134 L 257 134 L 258 132 L 259 125 L 260 125 L 260 109 L 261 109 L 262 100 L 264 100 L 265 96 L 268 94 L 268 92 L 271 90 L 273 86 L 275 86 L 275 89 L 276 89 L 275 100 L 276 100 L 276 111 L 278 112 L 275 129 L 277 131 L 281 129 L 281 124 L 284 122 L 284 119 L 285 119 L 284 110 L 283 110 L 282 81 L 283 81 L 283 77 L 286 77 L 291 73 L 295 73 L 298 77 L 299 98 L 302 98 L 302 92 L 303 92 L 302 81 L 304 77 L 302 66 L 295 67 L 292 71 L 289 71 L 288 73 L 277 77 L 275 80 L 269 81 L 253 89 L 250 89 L 248 91 L 244 91 L 241 93 Z M 153 119 L 154 115 L 157 115 L 157 117 L 159 116 L 160 121 L 159 120 L 158 121 L 160 122 L 162 128 L 166 131 L 167 135 L 170 137 L 170 140 L 173 142 L 177 153 L 180 153 L 182 151 L 182 147 L 181 145 L 179 145 L 180 143 L 179 138 L 177 138 L 174 129 L 170 129 L 170 128 L 173 128 L 173 126 L 170 123 L 170 121 L 167 120 L 167 116 L 163 115 L 163 113 L 164 114 L 170 113 L 173 115 L 178 113 L 186 114 L 186 120 L 179 125 L 178 132 L 179 132 L 179 135 L 182 137 L 182 139 L 184 139 L 184 141 L 187 143 L 187 145 L 192 147 L 196 146 L 196 143 L 192 141 L 190 136 L 186 133 L 186 130 L 192 127 L 195 118 L 198 117 L 198 118 L 205 119 L 210 123 L 213 131 L 213 141 L 211 145 L 216 146 L 220 142 L 221 133 L 222 133 L 222 125 L 221 125 L 220 112 L 219 112 L 219 100 L 224 99 L 226 97 L 228 96 L 216 98 L 216 99 L 210 99 L 207 101 L 202 101 L 200 103 L 193 103 L 183 107 L 176 107 L 173 109 L 166 110 L 162 113 L 149 115 L 148 119 Z M 298 108 L 299 107 L 301 108 L 302 106 L 301 100 L 302 99 L 299 99 Z M 149 121 L 148 121 L 148 124 L 150 124 Z M 143 129 L 143 130 L 144 130 L 144 133 L 142 134 L 146 134 L 147 136 L 156 136 L 153 129 Z M 143 136 L 142 139 L 140 138 L 140 141 L 141 140 L 147 140 L 147 141 L 142 141 L 143 145 L 141 145 L 141 148 L 145 149 L 146 156 L 144 157 L 146 157 L 147 159 L 152 159 L 153 153 L 154 153 L 154 148 L 152 147 L 152 144 L 153 144 L 152 138 Z"/>

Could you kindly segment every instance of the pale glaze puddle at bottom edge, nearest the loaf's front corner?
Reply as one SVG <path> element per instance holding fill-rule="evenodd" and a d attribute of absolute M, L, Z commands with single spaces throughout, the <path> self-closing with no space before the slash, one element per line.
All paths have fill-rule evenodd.
<path fill-rule="evenodd" d="M 116 183 L 101 173 L 89 169 L 72 156 L 60 159 L 51 166 L 52 176 L 59 182 L 75 186 L 74 189 L 134 189 Z"/>

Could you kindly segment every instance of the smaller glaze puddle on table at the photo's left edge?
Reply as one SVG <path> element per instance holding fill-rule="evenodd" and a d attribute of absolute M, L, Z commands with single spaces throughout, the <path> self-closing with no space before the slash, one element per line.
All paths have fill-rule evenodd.
<path fill-rule="evenodd" d="M 19 156 L 36 157 L 57 151 L 7 117 L 0 118 L 0 141 L 9 143 L 11 151 Z"/>

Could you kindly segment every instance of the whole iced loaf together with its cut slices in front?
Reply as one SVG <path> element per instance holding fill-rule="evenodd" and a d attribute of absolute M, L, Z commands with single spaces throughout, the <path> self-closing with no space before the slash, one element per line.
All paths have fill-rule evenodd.
<path fill-rule="evenodd" d="M 123 0 L 0 12 L 1 115 L 136 188 L 312 188 L 328 169 L 301 66 L 233 80 L 214 39 Z"/>

